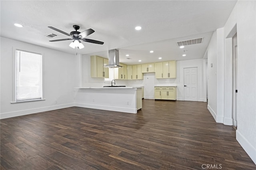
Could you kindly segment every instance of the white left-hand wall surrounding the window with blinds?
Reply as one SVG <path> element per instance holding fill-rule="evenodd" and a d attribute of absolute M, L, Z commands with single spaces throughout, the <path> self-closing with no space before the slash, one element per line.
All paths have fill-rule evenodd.
<path fill-rule="evenodd" d="M 45 101 L 13 101 L 13 48 L 43 54 Z M 75 55 L 1 37 L 1 119 L 73 106 L 74 86 L 80 74 Z M 55 103 L 57 101 L 57 103 Z"/>

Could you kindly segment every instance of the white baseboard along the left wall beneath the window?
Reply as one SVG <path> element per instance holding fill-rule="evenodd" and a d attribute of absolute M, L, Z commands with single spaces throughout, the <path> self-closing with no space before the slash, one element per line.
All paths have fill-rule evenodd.
<path fill-rule="evenodd" d="M 10 118 L 10 117 L 17 117 L 17 116 L 23 116 L 23 115 L 30 115 L 30 114 L 34 114 L 34 113 L 52 111 L 52 110 L 56 110 L 56 109 L 63 109 L 63 108 L 73 107 L 73 106 L 74 106 L 74 103 L 68 103 L 68 104 L 64 104 L 64 105 L 39 107 L 39 108 L 34 108 L 34 109 L 26 109 L 26 110 L 22 110 L 22 111 L 1 113 L 0 119 L 6 119 L 6 118 Z"/>

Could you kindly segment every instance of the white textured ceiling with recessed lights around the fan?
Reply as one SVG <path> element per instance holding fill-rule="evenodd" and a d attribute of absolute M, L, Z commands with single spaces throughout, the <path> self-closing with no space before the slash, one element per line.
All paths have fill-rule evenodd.
<path fill-rule="evenodd" d="M 66 53 L 76 54 L 69 41 L 49 40 L 69 38 L 56 32 L 80 32 L 92 28 L 86 38 L 99 40 L 104 45 L 82 42 L 79 54 L 108 55 L 108 49 L 120 50 L 120 62 L 125 64 L 150 63 L 168 60 L 203 58 L 212 33 L 222 28 L 236 0 L 188 1 L 0 1 L 1 36 L 32 43 Z M 17 28 L 14 23 L 22 24 Z M 142 30 L 135 30 L 141 26 Z M 48 34 L 58 34 L 47 38 Z M 186 57 L 177 41 L 204 37 L 202 44 L 187 45 Z M 149 53 L 153 50 L 154 53 Z M 126 59 L 126 54 L 130 58 Z"/>

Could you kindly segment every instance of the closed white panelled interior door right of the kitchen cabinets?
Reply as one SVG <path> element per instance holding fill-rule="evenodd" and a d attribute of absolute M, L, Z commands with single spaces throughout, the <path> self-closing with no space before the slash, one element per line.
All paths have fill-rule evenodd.
<path fill-rule="evenodd" d="M 198 101 L 197 67 L 184 68 L 184 100 Z"/>

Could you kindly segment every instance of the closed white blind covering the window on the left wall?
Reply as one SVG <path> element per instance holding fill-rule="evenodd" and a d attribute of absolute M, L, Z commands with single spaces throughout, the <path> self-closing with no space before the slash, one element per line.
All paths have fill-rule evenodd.
<path fill-rule="evenodd" d="M 42 55 L 16 50 L 16 101 L 42 99 Z"/>

